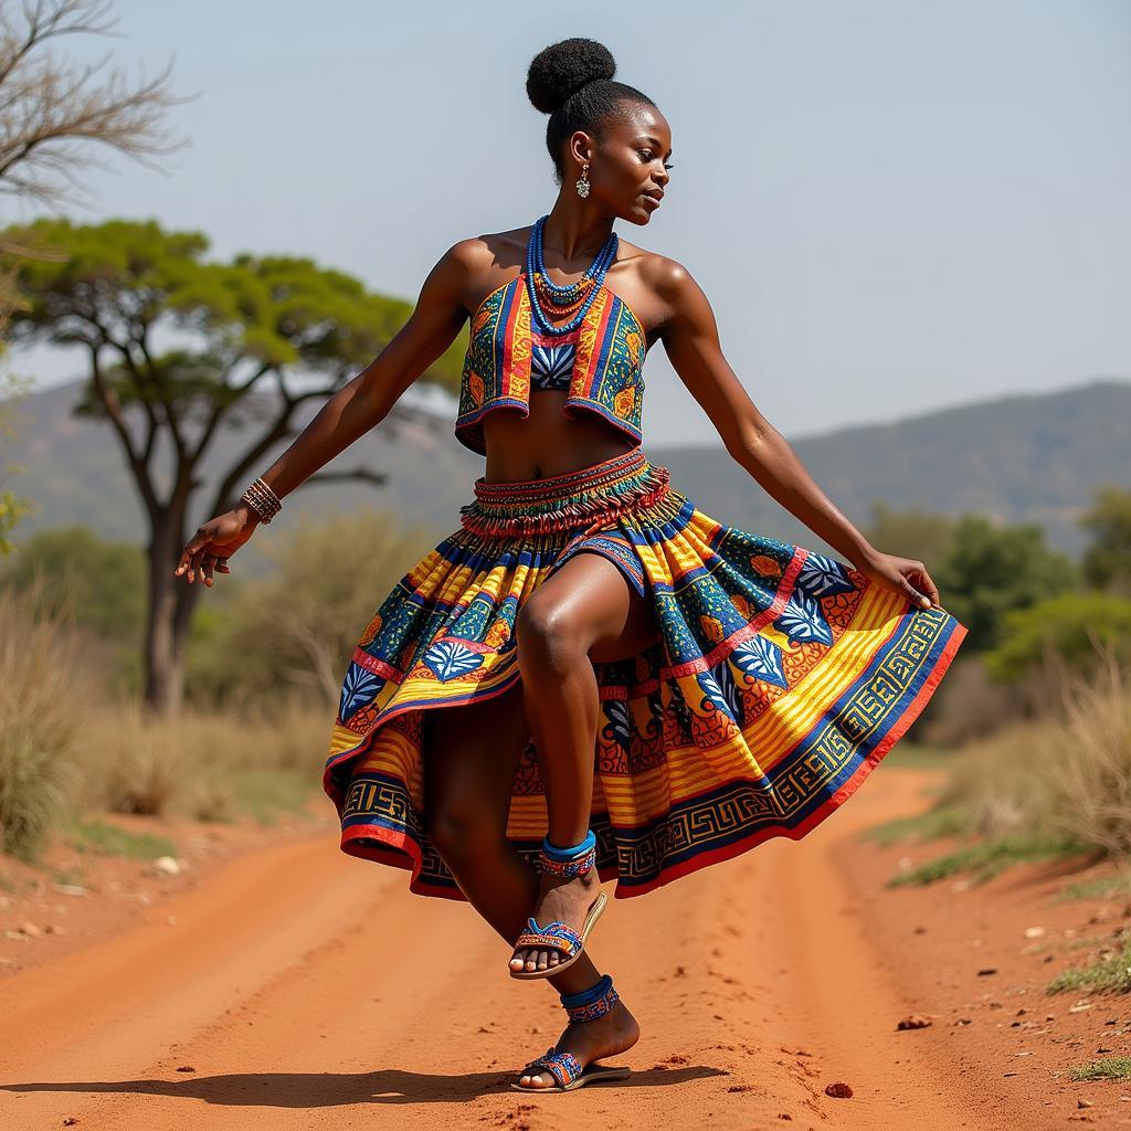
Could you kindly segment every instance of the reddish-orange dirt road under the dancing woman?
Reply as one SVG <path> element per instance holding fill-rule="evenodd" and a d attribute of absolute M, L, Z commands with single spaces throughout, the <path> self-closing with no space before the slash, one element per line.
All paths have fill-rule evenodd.
<path fill-rule="evenodd" d="M 854 862 L 877 849 L 855 834 L 922 808 L 924 780 L 892 761 L 804 840 L 611 904 L 592 948 L 644 1030 L 611 1061 L 627 1085 L 511 1091 L 562 1027 L 552 988 L 512 982 L 467 905 L 320 835 L 6 979 L 0 1126 L 1062 1126 L 959 1071 L 944 1025 L 896 1029 L 923 1003 L 862 899 Z M 826 1095 L 840 1080 L 853 1096 Z"/>

